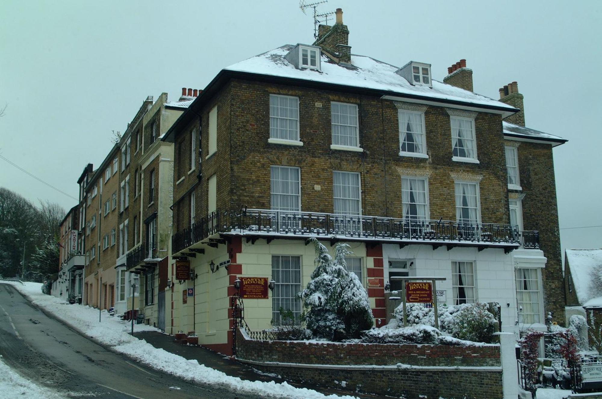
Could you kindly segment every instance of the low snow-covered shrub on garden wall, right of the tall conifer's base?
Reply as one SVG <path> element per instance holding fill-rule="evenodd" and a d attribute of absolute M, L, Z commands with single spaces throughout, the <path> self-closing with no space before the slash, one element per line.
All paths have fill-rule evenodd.
<path fill-rule="evenodd" d="M 362 342 L 370 344 L 436 344 L 441 332 L 435 327 L 418 324 L 402 328 L 371 329 Z"/>

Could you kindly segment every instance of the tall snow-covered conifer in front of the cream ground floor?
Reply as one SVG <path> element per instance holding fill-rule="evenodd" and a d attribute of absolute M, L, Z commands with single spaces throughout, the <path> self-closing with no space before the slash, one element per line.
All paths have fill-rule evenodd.
<path fill-rule="evenodd" d="M 305 314 L 302 319 L 316 338 L 345 340 L 359 338 L 372 324 L 368 293 L 358 276 L 347 270 L 349 245 L 338 243 L 335 260 L 318 240 L 315 244 L 315 270 L 307 287 L 299 293 Z"/>

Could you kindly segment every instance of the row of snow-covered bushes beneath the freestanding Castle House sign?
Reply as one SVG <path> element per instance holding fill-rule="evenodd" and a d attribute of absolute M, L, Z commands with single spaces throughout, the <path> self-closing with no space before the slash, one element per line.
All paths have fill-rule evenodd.
<path fill-rule="evenodd" d="M 495 317 L 488 311 L 486 303 L 462 303 L 441 306 L 438 309 L 439 329 L 459 340 L 491 343 L 495 332 Z M 435 309 L 425 308 L 422 303 L 406 305 L 408 326 L 435 326 Z M 403 307 L 393 311 L 397 320 L 403 320 Z"/>

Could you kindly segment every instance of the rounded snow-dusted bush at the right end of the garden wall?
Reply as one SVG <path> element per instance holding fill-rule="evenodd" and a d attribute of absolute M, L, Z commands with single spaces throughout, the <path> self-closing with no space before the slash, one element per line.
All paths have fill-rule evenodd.
<path fill-rule="evenodd" d="M 460 307 L 461 306 L 461 307 Z M 442 325 L 452 337 L 460 340 L 491 343 L 495 332 L 495 320 L 486 303 L 465 303 L 453 313 L 442 317 Z M 449 315 L 449 316 L 448 316 Z"/>

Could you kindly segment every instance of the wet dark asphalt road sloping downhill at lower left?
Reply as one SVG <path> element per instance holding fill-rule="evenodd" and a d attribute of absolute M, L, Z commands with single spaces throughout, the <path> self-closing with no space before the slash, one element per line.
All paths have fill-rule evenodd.
<path fill-rule="evenodd" d="M 137 364 L 48 317 L 9 284 L 0 284 L 0 355 L 28 379 L 72 398 L 262 397 L 187 382 Z"/>

